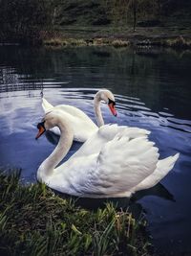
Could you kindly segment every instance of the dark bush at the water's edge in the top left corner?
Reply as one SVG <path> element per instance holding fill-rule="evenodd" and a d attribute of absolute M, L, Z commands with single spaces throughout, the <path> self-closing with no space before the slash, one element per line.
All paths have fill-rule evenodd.
<path fill-rule="evenodd" d="M 42 32 L 53 21 L 51 0 L 1 0 L 1 41 L 40 42 Z"/>

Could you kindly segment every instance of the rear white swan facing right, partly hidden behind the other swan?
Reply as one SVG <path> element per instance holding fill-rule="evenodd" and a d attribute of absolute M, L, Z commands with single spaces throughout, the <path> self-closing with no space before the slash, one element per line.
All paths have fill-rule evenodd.
<path fill-rule="evenodd" d="M 117 116 L 117 111 L 115 109 L 115 98 L 111 91 L 103 89 L 99 90 L 96 93 L 94 99 L 95 106 L 95 114 L 96 114 L 96 122 L 97 126 L 101 127 L 104 125 L 104 121 L 102 118 L 101 110 L 100 110 L 100 102 L 104 101 L 110 108 L 113 115 Z M 88 117 L 82 110 L 72 105 L 51 105 L 48 101 L 43 98 L 42 99 L 42 107 L 45 113 L 50 110 L 56 109 L 67 115 L 67 119 L 70 121 L 71 126 L 74 130 L 74 140 L 84 142 L 89 137 L 93 135 L 94 132 L 97 131 L 96 124 Z M 60 135 L 59 128 L 53 128 L 53 133 Z"/>

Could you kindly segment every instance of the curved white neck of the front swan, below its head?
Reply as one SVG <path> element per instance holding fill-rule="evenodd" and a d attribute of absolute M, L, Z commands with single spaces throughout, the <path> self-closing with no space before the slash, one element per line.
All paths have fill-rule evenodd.
<path fill-rule="evenodd" d="M 68 124 L 60 121 L 57 127 L 60 129 L 59 142 L 54 151 L 44 160 L 37 171 L 37 178 L 41 181 L 45 180 L 44 177 L 53 175 L 55 167 L 66 156 L 73 144 L 74 134 L 72 129 L 68 127 Z"/>

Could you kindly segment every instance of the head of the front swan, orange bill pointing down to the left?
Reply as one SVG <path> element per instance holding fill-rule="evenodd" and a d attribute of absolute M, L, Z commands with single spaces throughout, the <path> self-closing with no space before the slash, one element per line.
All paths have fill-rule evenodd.
<path fill-rule="evenodd" d="M 59 123 L 59 112 L 48 112 L 40 123 L 37 124 L 38 133 L 35 137 L 37 140 L 46 130 L 54 128 Z"/>

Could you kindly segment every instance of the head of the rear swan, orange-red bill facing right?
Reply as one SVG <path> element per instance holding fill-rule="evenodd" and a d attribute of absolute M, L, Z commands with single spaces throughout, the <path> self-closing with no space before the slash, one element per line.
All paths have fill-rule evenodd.
<path fill-rule="evenodd" d="M 114 97 L 114 94 L 110 90 L 107 90 L 107 89 L 99 90 L 96 93 L 95 98 L 98 101 L 103 101 L 104 103 L 106 103 L 109 106 L 112 114 L 114 116 L 117 116 L 117 110 L 115 107 L 115 105 L 116 105 L 115 97 Z"/>

